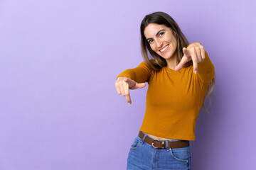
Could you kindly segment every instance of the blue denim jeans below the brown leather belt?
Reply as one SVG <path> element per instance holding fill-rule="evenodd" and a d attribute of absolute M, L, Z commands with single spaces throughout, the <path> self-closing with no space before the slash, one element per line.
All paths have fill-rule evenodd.
<path fill-rule="evenodd" d="M 152 145 L 144 142 L 145 137 L 145 133 L 143 139 L 137 135 L 134 142 L 132 142 L 127 158 L 127 170 L 191 170 L 190 146 L 169 148 L 168 142 L 166 142 L 166 148 L 154 148 Z"/>

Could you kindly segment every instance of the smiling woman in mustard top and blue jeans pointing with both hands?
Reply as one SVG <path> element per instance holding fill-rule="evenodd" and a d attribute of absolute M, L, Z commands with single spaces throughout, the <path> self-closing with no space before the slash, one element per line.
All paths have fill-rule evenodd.
<path fill-rule="evenodd" d="M 119 74 L 115 83 L 129 104 L 129 89 L 149 84 L 144 120 L 127 169 L 191 169 L 189 141 L 195 140 L 198 113 L 213 91 L 213 63 L 200 42 L 188 45 L 167 13 L 145 16 L 140 31 L 144 62 Z"/>

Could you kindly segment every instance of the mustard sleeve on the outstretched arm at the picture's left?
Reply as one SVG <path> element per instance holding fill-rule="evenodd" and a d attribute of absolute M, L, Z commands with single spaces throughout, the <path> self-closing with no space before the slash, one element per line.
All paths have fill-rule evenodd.
<path fill-rule="evenodd" d="M 149 82 L 151 76 L 151 69 L 147 66 L 145 62 L 139 64 L 138 67 L 134 69 L 126 69 L 124 72 L 120 73 L 118 77 L 129 77 L 130 79 L 136 81 L 137 83 Z"/>

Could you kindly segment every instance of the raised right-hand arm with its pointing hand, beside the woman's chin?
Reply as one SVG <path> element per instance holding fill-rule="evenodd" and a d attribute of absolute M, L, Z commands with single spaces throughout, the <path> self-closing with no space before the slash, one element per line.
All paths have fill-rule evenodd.
<path fill-rule="evenodd" d="M 192 60 L 193 72 L 198 74 L 203 83 L 209 83 L 214 77 L 215 69 L 203 45 L 200 42 L 193 42 L 188 47 L 183 47 L 183 53 L 181 62 L 176 66 L 175 70 L 178 71 L 186 62 Z"/>

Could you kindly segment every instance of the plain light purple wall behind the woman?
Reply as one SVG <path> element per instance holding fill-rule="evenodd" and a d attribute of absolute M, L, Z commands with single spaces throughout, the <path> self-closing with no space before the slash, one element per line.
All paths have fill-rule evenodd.
<path fill-rule="evenodd" d="M 164 11 L 215 65 L 197 170 L 255 169 L 255 1 L 0 1 L 0 169 L 125 169 L 146 89 L 116 77 L 143 60 L 139 26 Z"/>

